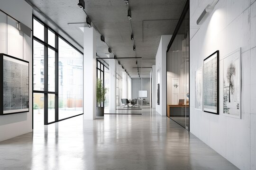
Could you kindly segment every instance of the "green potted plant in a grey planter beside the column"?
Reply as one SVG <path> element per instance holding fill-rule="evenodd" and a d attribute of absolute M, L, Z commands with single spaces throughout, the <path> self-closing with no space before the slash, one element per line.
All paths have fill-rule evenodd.
<path fill-rule="evenodd" d="M 96 115 L 97 116 L 104 116 L 104 107 L 101 107 L 101 102 L 105 101 L 106 93 L 107 93 L 107 88 L 104 87 L 102 80 L 98 78 L 96 82 L 96 100 L 97 100 Z"/>

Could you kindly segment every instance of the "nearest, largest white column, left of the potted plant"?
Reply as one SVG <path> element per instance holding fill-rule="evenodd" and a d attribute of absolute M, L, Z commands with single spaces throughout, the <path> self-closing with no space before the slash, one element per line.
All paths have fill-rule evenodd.
<path fill-rule="evenodd" d="M 84 27 L 83 119 L 96 118 L 96 30 Z"/>

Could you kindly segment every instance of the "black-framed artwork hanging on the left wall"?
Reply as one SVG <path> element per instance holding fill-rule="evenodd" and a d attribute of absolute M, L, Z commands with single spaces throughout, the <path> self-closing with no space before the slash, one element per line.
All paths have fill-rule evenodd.
<path fill-rule="evenodd" d="M 0 115 L 29 111 L 29 63 L 0 54 Z"/>

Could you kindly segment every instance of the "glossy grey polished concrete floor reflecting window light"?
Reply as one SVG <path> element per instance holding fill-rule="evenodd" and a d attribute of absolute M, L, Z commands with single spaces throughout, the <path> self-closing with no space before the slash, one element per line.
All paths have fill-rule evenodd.
<path fill-rule="evenodd" d="M 0 170 L 237 169 L 173 120 L 141 113 L 78 116 L 0 142 Z"/>

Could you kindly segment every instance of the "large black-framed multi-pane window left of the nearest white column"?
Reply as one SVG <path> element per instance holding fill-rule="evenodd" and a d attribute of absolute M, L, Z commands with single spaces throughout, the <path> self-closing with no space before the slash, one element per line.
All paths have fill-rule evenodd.
<path fill-rule="evenodd" d="M 82 66 L 82 52 L 34 17 L 34 127 L 82 114 Z"/>

